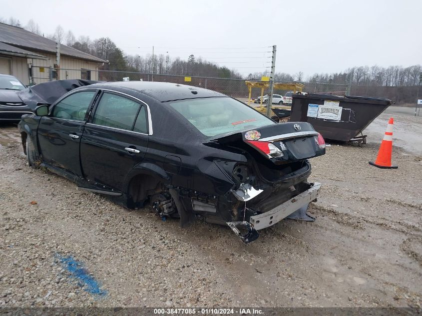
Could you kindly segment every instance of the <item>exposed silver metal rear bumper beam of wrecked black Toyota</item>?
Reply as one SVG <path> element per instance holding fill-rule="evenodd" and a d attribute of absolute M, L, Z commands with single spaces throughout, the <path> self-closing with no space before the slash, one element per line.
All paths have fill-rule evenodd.
<path fill-rule="evenodd" d="M 259 215 L 251 216 L 249 223 L 255 230 L 273 226 L 301 207 L 307 205 L 309 202 L 315 200 L 320 192 L 320 189 L 321 183 L 315 182 L 308 190 L 300 193 L 294 198 L 291 198 L 274 209 Z"/>

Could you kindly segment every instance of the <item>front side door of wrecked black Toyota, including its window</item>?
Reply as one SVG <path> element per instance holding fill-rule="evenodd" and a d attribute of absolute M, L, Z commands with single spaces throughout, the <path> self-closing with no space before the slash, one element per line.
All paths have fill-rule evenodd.
<path fill-rule="evenodd" d="M 79 145 L 96 90 L 76 91 L 53 105 L 38 125 L 43 161 L 82 177 Z"/>

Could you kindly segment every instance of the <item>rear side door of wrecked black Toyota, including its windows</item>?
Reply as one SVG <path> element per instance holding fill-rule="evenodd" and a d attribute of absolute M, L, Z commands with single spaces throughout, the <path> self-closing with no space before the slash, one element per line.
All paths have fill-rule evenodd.
<path fill-rule="evenodd" d="M 103 91 L 81 140 L 81 165 L 94 185 L 123 191 L 130 170 L 148 147 L 148 108 L 126 94 Z"/>

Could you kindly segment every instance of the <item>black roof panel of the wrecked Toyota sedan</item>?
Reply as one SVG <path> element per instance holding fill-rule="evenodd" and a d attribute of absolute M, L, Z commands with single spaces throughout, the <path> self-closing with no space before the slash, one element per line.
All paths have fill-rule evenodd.
<path fill-rule="evenodd" d="M 117 81 L 94 83 L 84 88 L 87 87 L 116 91 L 119 91 L 119 88 L 126 91 L 129 89 L 146 94 L 160 102 L 205 97 L 227 97 L 227 95 L 216 91 L 171 82 Z"/>

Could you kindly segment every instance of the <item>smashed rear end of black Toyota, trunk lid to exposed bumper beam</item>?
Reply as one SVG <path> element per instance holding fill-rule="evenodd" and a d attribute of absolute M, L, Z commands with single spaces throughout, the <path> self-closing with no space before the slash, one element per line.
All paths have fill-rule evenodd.
<path fill-rule="evenodd" d="M 306 209 L 317 198 L 321 184 L 307 182 L 309 159 L 325 154 L 325 141 L 311 124 L 272 124 L 210 142 L 246 156 L 246 162 L 234 165 L 217 162 L 234 183 L 226 195 L 232 218 L 227 225 L 243 242 L 256 240 L 258 230 L 289 216 L 314 220 Z"/>

